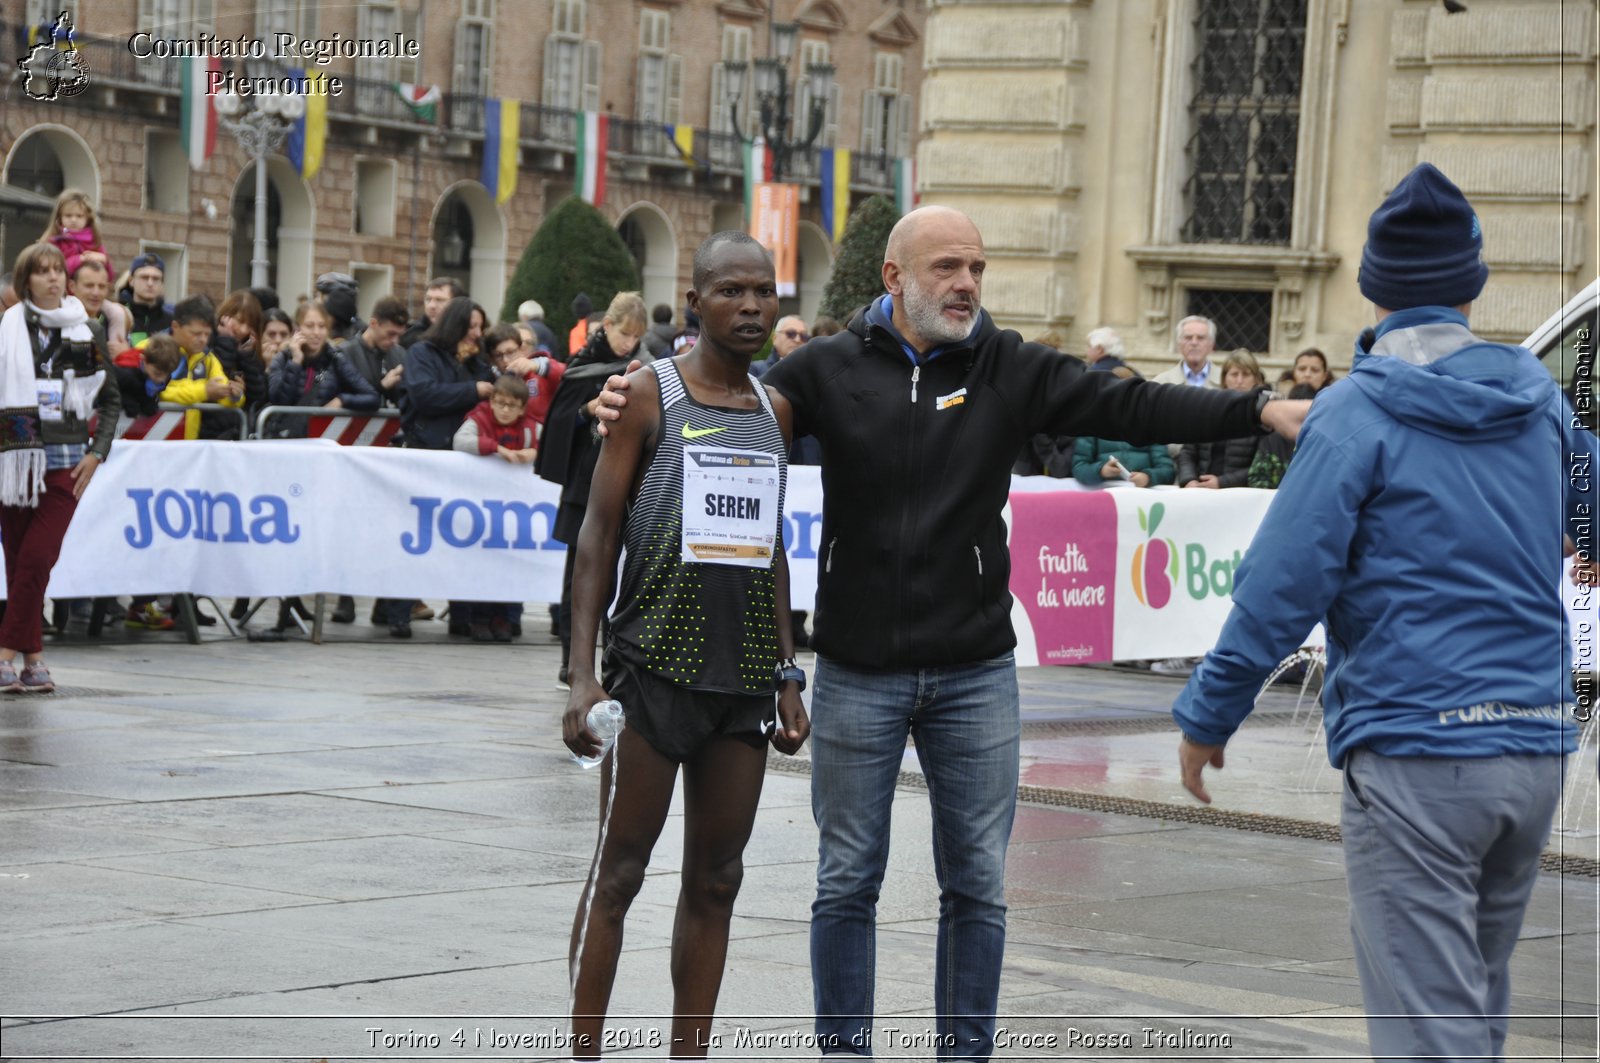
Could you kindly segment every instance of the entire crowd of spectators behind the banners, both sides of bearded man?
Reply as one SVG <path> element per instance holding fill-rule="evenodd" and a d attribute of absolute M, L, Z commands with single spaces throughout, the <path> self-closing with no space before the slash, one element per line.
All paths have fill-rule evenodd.
<path fill-rule="evenodd" d="M 579 295 L 573 301 L 578 323 L 566 338 L 568 360 L 538 301 L 518 306 L 517 325 L 490 328 L 485 309 L 453 277 L 429 280 L 422 315 L 416 320 L 410 320 L 400 299 L 389 296 L 358 319 L 357 282 L 346 274 L 320 277 L 317 291 L 301 296 L 293 311 L 282 307 L 270 288 L 230 291 L 219 306 L 205 295 L 192 295 L 174 306 L 165 298 L 166 264 L 155 253 L 139 255 L 112 280 L 112 263 L 99 243 L 86 197 L 62 194 L 51 231 L 50 242 L 69 266 L 69 291 L 104 335 L 122 395 L 120 431 L 136 418 L 155 416 L 160 403 L 195 407 L 184 418 L 186 439 L 256 434 L 256 418 L 269 405 L 354 415 L 392 411 L 400 419 L 394 445 L 456 448 L 512 463 L 538 461 L 541 475 L 562 485 L 557 520 L 562 541 L 573 540 L 582 522 L 594 458 L 587 411 L 605 375 L 629 357 L 650 360 L 678 354 L 698 336 L 691 314 L 678 325 L 674 307 L 658 304 L 646 311 L 637 293 L 619 295 L 603 312 L 595 312 L 589 296 Z M 837 330 L 830 319 L 808 327 L 797 315 L 784 317 L 773 333 L 770 357 L 752 365 L 752 371 L 760 376 L 811 336 Z M 1221 363 L 1213 362 L 1213 322 L 1187 317 L 1179 322 L 1174 338 L 1179 362 L 1155 379 L 1237 391 L 1266 387 L 1261 367 L 1248 351 L 1234 351 Z M 1056 349 L 1066 346 L 1058 333 L 1038 336 L 1038 341 Z M 1096 328 L 1088 335 L 1083 359 L 1090 371 L 1136 376 L 1123 355 L 1123 343 L 1114 330 Z M 570 368 L 582 371 L 568 373 Z M 1326 357 L 1312 347 L 1299 352 L 1278 389 L 1294 389 L 1299 397 L 1315 395 L 1331 384 Z M 520 403 L 515 411 L 514 399 Z M 552 415 L 563 431 L 546 439 L 544 426 Z M 306 432 L 307 418 L 278 415 L 269 418 L 259 434 L 282 439 Z M 816 464 L 816 440 L 797 439 L 790 458 Z M 1293 447 L 1272 435 L 1157 447 L 1038 435 L 1018 456 L 1016 472 L 1074 477 L 1085 485 L 1174 483 L 1216 490 L 1277 487 L 1291 458 Z M 234 616 L 246 615 L 250 604 L 235 602 Z M 557 634 L 566 631 L 563 615 L 552 610 Z M 272 631 L 282 632 L 304 616 L 304 607 L 290 599 Z M 381 599 L 370 620 L 386 624 L 394 637 L 410 637 L 413 620 L 432 616 L 434 610 L 422 602 Z M 517 605 L 451 602 L 450 618 L 453 634 L 480 640 L 520 636 Z M 339 597 L 331 620 L 354 623 L 350 596 Z M 125 623 L 160 629 L 171 628 L 173 618 L 162 600 L 136 599 Z M 805 645 L 803 612 L 795 613 L 794 629 L 797 644 Z"/>

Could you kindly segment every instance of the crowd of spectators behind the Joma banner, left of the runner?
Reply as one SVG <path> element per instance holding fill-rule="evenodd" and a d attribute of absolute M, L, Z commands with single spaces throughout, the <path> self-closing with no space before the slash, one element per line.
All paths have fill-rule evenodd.
<path fill-rule="evenodd" d="M 270 288 L 240 288 L 221 303 L 189 295 L 173 304 L 166 299 L 162 256 L 142 253 L 117 275 L 101 247 L 93 205 L 72 191 L 58 202 L 43 242 L 62 253 L 66 293 L 82 301 L 110 362 L 109 384 L 122 400 L 117 434 L 128 432 L 136 421 L 154 424 L 165 403 L 189 407 L 184 439 L 302 437 L 306 416 L 269 415 L 259 432 L 256 426 L 267 407 L 304 407 L 395 416 L 400 431 L 392 445 L 397 447 L 456 448 L 530 466 L 539 453 L 566 359 L 538 301 L 518 306 L 515 325 L 490 328 L 488 314 L 459 280 L 435 277 L 426 285 L 419 319 L 411 320 L 405 303 L 392 296 L 358 315 L 355 279 L 323 274 L 315 293 L 288 307 Z M 10 275 L 0 283 L 10 291 Z M 638 295 L 624 295 L 629 296 L 626 330 L 590 331 L 605 315 L 586 314 L 573 333 L 579 341 L 574 360 L 605 354 L 608 338 L 627 339 L 611 357 L 632 354 L 650 322 Z M 14 293 L 3 299 L 5 306 L 14 301 Z M 581 301 L 589 299 L 581 296 Z M 664 304 L 651 317 L 650 352 L 672 354 L 685 341 L 693 344 L 696 322 L 685 319 L 677 327 L 674 309 Z M 72 605 L 74 620 L 90 615 L 88 602 Z M 136 597 L 126 607 L 99 599 L 93 608 L 101 623 L 174 626 L 171 596 Z M 234 604 L 234 620 L 251 615 L 251 602 Z M 379 599 L 370 620 L 403 639 L 410 637 L 414 620 L 434 616 L 422 602 Z M 285 599 L 277 621 L 251 634 L 282 637 L 288 626 L 307 618 L 299 599 Z M 451 602 L 448 618 L 451 634 L 483 642 L 507 642 L 522 634 L 520 604 Z M 552 605 L 552 632 L 555 618 Z M 339 596 L 330 620 L 354 623 L 354 597 Z M 197 613 L 197 621 L 214 624 L 216 618 Z M 50 618 L 48 632 L 53 632 Z"/>

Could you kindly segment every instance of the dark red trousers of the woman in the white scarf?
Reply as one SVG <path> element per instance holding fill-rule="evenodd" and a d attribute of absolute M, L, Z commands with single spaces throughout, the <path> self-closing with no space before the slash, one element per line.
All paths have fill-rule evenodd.
<path fill-rule="evenodd" d="M 61 557 L 61 540 L 78 507 L 72 469 L 45 474 L 38 506 L 0 506 L 0 548 L 5 549 L 6 610 L 0 647 L 38 653 L 45 648 L 45 586 Z"/>

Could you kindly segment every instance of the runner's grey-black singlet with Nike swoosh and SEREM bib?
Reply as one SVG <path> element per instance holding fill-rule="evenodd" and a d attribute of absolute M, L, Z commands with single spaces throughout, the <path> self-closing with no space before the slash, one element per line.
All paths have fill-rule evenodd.
<path fill-rule="evenodd" d="M 672 359 L 650 365 L 661 432 L 622 527 L 611 650 L 680 687 L 770 693 L 787 450 L 758 379 L 755 410 L 696 402 Z"/>

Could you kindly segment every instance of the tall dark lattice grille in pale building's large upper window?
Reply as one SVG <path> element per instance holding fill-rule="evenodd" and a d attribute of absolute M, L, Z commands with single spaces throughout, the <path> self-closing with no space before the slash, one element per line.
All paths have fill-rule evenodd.
<path fill-rule="evenodd" d="M 1198 0 L 1194 26 L 1182 239 L 1288 245 L 1306 0 Z"/>

